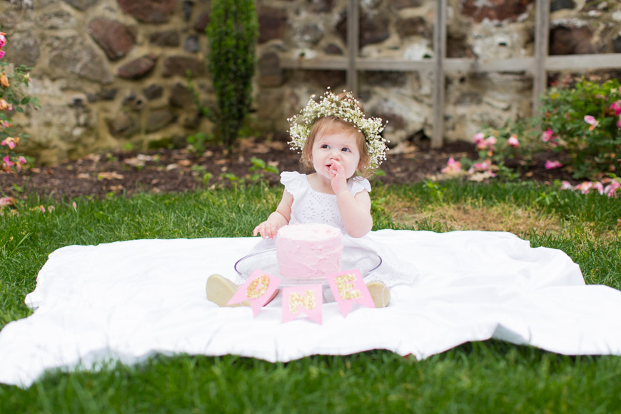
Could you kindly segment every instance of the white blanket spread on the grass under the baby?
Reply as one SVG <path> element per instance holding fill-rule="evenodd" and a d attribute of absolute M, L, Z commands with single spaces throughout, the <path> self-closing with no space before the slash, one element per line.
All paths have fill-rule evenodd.
<path fill-rule="evenodd" d="M 33 315 L 0 332 L 0 382 L 30 385 L 48 368 L 136 363 L 155 353 L 237 354 L 288 361 L 370 349 L 416 358 L 499 338 L 564 354 L 621 354 L 621 292 L 585 286 L 562 251 L 530 248 L 510 233 L 376 231 L 413 286 L 392 288 L 388 308 L 323 305 L 323 324 L 281 323 L 277 298 L 218 308 L 205 283 L 233 276 L 256 238 L 138 240 L 67 246 L 49 256 L 26 303 Z M 413 267 L 414 268 L 414 267 Z M 404 269 L 407 271 L 407 269 Z"/>

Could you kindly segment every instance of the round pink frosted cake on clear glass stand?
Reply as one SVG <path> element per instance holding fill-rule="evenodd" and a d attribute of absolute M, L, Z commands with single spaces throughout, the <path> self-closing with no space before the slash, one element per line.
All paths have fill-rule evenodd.
<path fill-rule="evenodd" d="M 328 224 L 283 226 L 276 236 L 278 271 L 285 278 L 318 278 L 340 271 L 343 234 Z"/>

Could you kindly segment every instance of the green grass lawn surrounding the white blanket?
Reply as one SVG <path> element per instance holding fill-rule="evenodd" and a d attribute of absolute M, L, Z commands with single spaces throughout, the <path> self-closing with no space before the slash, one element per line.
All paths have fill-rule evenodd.
<path fill-rule="evenodd" d="M 47 255 L 71 244 L 250 236 L 281 188 L 252 186 L 103 201 L 30 196 L 0 217 L 0 328 L 30 310 Z M 375 229 L 512 231 L 560 248 L 587 283 L 621 288 L 621 201 L 533 183 L 375 186 Z M 41 213 L 36 206 L 44 206 Z M 48 212 L 49 206 L 54 210 Z M 417 361 L 384 350 L 267 363 L 158 356 L 93 373 L 0 385 L 0 413 L 621 413 L 621 357 L 568 357 L 497 340 Z"/>

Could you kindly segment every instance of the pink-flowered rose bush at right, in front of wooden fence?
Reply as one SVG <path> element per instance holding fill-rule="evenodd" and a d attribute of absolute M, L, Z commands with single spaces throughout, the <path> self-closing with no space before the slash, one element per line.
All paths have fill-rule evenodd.
<path fill-rule="evenodd" d="M 617 194 L 616 174 L 621 171 L 620 83 L 617 79 L 597 84 L 568 77 L 542 96 L 537 116 L 509 121 L 503 128 L 483 128 L 475 133 L 473 143 L 478 159 L 460 160 L 460 168 L 473 179 L 515 179 L 520 177 L 520 168 L 542 163 L 540 166 L 547 170 L 559 169 L 584 180 L 572 189 Z M 515 161 L 508 162 L 511 160 Z M 443 172 L 455 173 L 456 168 L 455 160 L 449 160 Z M 612 181 L 606 183 L 602 177 Z"/>

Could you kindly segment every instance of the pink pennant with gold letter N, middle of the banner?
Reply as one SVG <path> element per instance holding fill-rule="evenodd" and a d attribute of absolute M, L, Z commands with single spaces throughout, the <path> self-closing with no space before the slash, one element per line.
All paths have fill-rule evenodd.
<path fill-rule="evenodd" d="M 283 323 L 306 313 L 310 320 L 321 324 L 323 285 L 288 286 L 283 288 Z"/>

